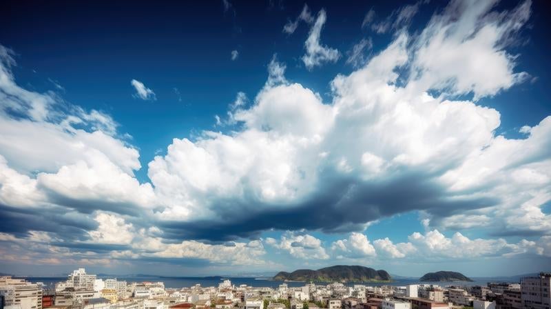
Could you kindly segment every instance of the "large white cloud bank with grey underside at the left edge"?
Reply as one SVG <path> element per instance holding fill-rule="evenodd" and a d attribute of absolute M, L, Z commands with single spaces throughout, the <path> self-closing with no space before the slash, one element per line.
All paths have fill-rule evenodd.
<path fill-rule="evenodd" d="M 21 88 L 11 55 L 0 46 L 0 230 L 83 241 L 97 210 L 137 215 L 154 206 L 152 186 L 134 178 L 138 150 L 117 123 L 54 92 Z"/>

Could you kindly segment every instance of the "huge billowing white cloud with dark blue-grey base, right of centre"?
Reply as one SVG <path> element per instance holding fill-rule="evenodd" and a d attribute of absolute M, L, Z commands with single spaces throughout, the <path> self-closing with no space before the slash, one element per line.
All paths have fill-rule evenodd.
<path fill-rule="evenodd" d="M 497 110 L 454 99 L 491 96 L 525 74 L 514 72 L 505 48 L 530 2 L 491 8 L 456 1 L 418 37 L 399 32 L 366 66 L 335 77 L 331 103 L 287 81 L 272 61 L 253 105 L 231 114 L 239 130 L 175 139 L 149 163 L 167 235 L 357 230 L 410 210 L 422 210 L 430 226 L 546 233 L 550 121 L 508 139 L 495 134 Z M 490 72 L 479 72 L 478 55 Z"/>

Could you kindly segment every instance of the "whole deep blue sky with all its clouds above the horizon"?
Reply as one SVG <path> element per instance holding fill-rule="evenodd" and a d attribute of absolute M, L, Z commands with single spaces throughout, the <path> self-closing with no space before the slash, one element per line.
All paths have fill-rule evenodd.
<path fill-rule="evenodd" d="M 551 271 L 546 1 L 3 1 L 0 272 Z"/>

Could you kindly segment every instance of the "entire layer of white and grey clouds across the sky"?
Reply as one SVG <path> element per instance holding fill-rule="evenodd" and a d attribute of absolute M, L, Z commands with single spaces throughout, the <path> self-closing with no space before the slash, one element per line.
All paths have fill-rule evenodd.
<path fill-rule="evenodd" d="M 356 69 L 334 77 L 329 101 L 289 81 L 273 57 L 256 97 L 239 92 L 227 117 L 216 115 L 229 130 L 173 139 L 145 183 L 134 177 L 138 149 L 108 114 L 25 90 L 0 47 L 3 255 L 237 265 L 267 263 L 268 248 L 313 260 L 550 256 L 551 117 L 513 139 L 496 134 L 499 111 L 479 104 L 528 77 L 507 49 L 530 2 L 508 12 L 493 4 L 453 1 L 415 36 L 402 26 L 419 4 L 397 10 L 391 43 L 366 59 L 371 41 L 360 41 L 347 61 Z M 304 6 L 284 32 L 300 21 L 311 24 L 306 68 L 337 61 L 320 43 L 325 10 L 314 20 Z M 406 242 L 363 232 L 414 211 L 426 232 Z M 466 228 L 522 240 L 439 232 Z M 261 239 L 267 230 L 287 232 Z M 346 236 L 324 244 L 312 231 Z"/>

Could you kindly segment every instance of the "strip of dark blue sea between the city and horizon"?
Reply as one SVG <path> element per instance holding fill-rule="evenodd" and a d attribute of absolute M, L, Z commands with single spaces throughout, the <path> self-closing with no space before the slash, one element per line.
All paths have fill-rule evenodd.
<path fill-rule="evenodd" d="M 21 277 L 31 282 L 42 282 L 48 288 L 53 288 L 55 283 L 65 281 L 67 277 Z M 145 276 L 145 277 L 103 277 L 98 276 L 98 279 L 110 279 L 116 278 L 117 280 L 131 282 L 143 282 L 143 281 L 163 281 L 165 288 L 189 288 L 196 284 L 200 284 L 202 287 L 218 286 L 222 280 L 229 279 L 231 283 L 236 286 L 246 284 L 253 287 L 269 287 L 278 288 L 281 283 L 287 283 L 289 287 L 304 286 L 304 282 L 284 282 L 269 279 L 259 279 L 251 277 L 162 277 L 162 276 Z M 510 278 L 508 278 L 510 279 Z M 501 282 L 506 280 L 499 280 L 498 278 L 472 278 L 472 282 L 458 281 L 458 282 L 419 282 L 418 279 L 405 278 L 395 279 L 390 283 L 380 282 L 366 282 L 366 283 L 345 283 L 346 286 L 353 286 L 354 284 L 364 284 L 365 286 L 406 286 L 408 284 L 437 284 L 439 286 L 486 286 L 488 282 Z M 318 285 L 326 285 L 326 283 L 316 283 Z"/>

